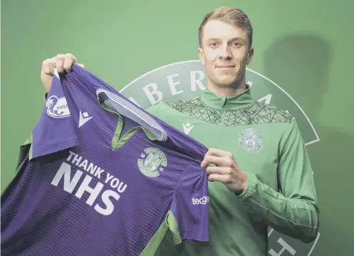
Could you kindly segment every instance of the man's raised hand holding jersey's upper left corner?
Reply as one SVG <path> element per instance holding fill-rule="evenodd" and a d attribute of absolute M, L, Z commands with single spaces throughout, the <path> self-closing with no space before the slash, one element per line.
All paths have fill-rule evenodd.
<path fill-rule="evenodd" d="M 42 70 L 41 70 L 41 82 L 43 84 L 44 90 L 49 92 L 51 88 L 51 81 L 53 80 L 54 75 L 54 68 L 58 71 L 58 73 L 62 73 L 64 71 L 70 72 L 71 66 L 73 63 L 77 63 L 76 56 L 73 56 L 71 53 L 66 54 L 58 54 L 53 58 L 47 58 L 42 63 Z M 83 64 L 78 63 L 79 66 L 83 66 Z"/>

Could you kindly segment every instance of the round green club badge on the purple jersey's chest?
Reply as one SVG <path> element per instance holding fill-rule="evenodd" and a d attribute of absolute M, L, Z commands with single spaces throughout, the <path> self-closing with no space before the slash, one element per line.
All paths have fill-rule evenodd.
<path fill-rule="evenodd" d="M 148 177 L 157 177 L 167 166 L 166 155 L 157 148 L 145 148 L 137 160 L 140 171 Z"/>

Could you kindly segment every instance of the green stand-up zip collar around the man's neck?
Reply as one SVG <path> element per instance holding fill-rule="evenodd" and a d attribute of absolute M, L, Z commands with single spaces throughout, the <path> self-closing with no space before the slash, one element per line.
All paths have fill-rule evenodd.
<path fill-rule="evenodd" d="M 201 99 L 204 105 L 209 106 L 210 108 L 224 109 L 225 111 L 234 111 L 254 103 L 254 99 L 250 92 L 250 86 L 246 86 L 245 91 L 232 97 L 218 96 L 212 91 L 207 90 L 203 93 Z"/>

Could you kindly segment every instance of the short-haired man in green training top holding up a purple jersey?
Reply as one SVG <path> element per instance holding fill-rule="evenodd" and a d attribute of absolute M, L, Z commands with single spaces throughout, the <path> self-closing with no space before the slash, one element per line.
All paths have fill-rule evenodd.
<path fill-rule="evenodd" d="M 207 14 L 197 53 L 207 91 L 192 101 L 163 101 L 147 111 L 176 128 L 193 123 L 189 135 L 211 148 L 202 163 L 210 181 L 211 241 L 175 247 L 167 239 L 161 255 L 266 255 L 269 226 L 313 241 L 319 210 L 308 153 L 295 118 L 250 95 L 245 73 L 254 48 L 244 11 L 223 6 Z M 46 91 L 55 66 L 70 72 L 76 62 L 71 53 L 43 61 Z"/>

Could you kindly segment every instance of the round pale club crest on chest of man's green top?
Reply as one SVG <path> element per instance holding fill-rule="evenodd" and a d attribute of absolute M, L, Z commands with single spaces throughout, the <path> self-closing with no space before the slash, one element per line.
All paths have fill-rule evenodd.
<path fill-rule="evenodd" d="M 247 128 L 239 135 L 239 145 L 246 151 L 258 151 L 262 147 L 263 136 L 254 128 Z"/>

